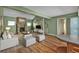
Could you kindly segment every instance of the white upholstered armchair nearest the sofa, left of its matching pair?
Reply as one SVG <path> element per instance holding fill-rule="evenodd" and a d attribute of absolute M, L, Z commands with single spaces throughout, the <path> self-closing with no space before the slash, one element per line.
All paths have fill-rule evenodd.
<path fill-rule="evenodd" d="M 25 47 L 29 47 L 36 43 L 36 38 L 32 34 L 27 34 L 24 36 Z"/>

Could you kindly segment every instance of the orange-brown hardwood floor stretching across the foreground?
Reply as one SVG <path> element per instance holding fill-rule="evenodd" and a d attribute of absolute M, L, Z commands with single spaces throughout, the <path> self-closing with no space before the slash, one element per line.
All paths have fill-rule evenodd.
<path fill-rule="evenodd" d="M 22 45 L 0 51 L 1 53 L 56 53 L 66 52 L 66 43 L 58 40 L 54 36 L 46 36 L 46 40 L 36 42 L 32 46 L 24 47 Z M 63 48 L 63 49 L 61 49 Z M 60 50 L 60 51 L 59 51 Z"/>

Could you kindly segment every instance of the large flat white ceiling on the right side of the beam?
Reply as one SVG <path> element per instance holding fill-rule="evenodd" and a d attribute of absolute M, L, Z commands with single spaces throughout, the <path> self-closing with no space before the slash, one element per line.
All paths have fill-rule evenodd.
<path fill-rule="evenodd" d="M 24 6 L 37 13 L 53 17 L 78 11 L 78 6 Z"/>

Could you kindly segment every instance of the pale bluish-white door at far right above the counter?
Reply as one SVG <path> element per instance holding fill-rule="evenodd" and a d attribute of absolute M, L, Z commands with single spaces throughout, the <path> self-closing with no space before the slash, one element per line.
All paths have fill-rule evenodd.
<path fill-rule="evenodd" d="M 71 18 L 71 20 L 70 20 L 71 35 L 79 35 L 78 21 L 79 21 L 79 17 Z"/>

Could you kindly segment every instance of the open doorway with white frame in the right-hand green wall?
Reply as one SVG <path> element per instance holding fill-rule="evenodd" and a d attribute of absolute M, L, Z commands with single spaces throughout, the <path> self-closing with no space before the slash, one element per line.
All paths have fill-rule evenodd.
<path fill-rule="evenodd" d="M 57 19 L 57 35 L 66 35 L 66 18 L 58 18 Z"/>

